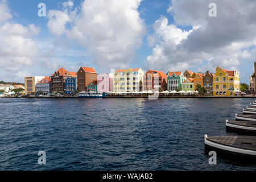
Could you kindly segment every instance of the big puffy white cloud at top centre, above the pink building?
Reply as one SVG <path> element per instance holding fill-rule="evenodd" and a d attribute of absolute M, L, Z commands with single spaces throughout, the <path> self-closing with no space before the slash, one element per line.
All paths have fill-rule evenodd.
<path fill-rule="evenodd" d="M 67 8 L 50 10 L 48 27 L 53 35 L 65 35 L 79 42 L 96 65 L 127 67 L 135 56 L 145 32 L 137 11 L 141 0 L 86 0 L 81 12 Z"/>

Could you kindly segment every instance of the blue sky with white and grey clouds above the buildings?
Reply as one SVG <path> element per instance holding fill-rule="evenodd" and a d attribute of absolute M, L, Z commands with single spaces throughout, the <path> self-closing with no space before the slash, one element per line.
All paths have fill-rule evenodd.
<path fill-rule="evenodd" d="M 38 16 L 39 3 L 46 16 Z M 210 3 L 216 15 L 209 16 Z M 240 72 L 249 84 L 254 0 L 0 0 L 0 80 L 94 67 Z"/>

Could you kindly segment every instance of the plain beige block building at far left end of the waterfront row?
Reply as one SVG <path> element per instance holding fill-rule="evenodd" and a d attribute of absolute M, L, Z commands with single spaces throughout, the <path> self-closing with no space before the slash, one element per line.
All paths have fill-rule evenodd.
<path fill-rule="evenodd" d="M 36 83 L 42 80 L 44 76 L 27 76 L 24 77 L 25 81 L 25 94 L 35 94 L 36 93 Z"/>

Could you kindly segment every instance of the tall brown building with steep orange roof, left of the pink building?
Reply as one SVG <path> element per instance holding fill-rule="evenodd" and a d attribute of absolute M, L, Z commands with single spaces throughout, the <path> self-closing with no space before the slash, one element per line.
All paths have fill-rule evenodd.
<path fill-rule="evenodd" d="M 87 85 L 97 81 L 97 72 L 94 68 L 81 67 L 77 72 L 77 90 L 87 92 Z"/>

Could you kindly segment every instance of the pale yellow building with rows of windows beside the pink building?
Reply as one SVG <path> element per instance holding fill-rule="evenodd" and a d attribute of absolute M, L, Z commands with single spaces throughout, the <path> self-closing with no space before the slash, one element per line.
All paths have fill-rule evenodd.
<path fill-rule="evenodd" d="M 114 92 L 141 92 L 143 75 L 141 68 L 118 69 L 114 74 Z"/>

